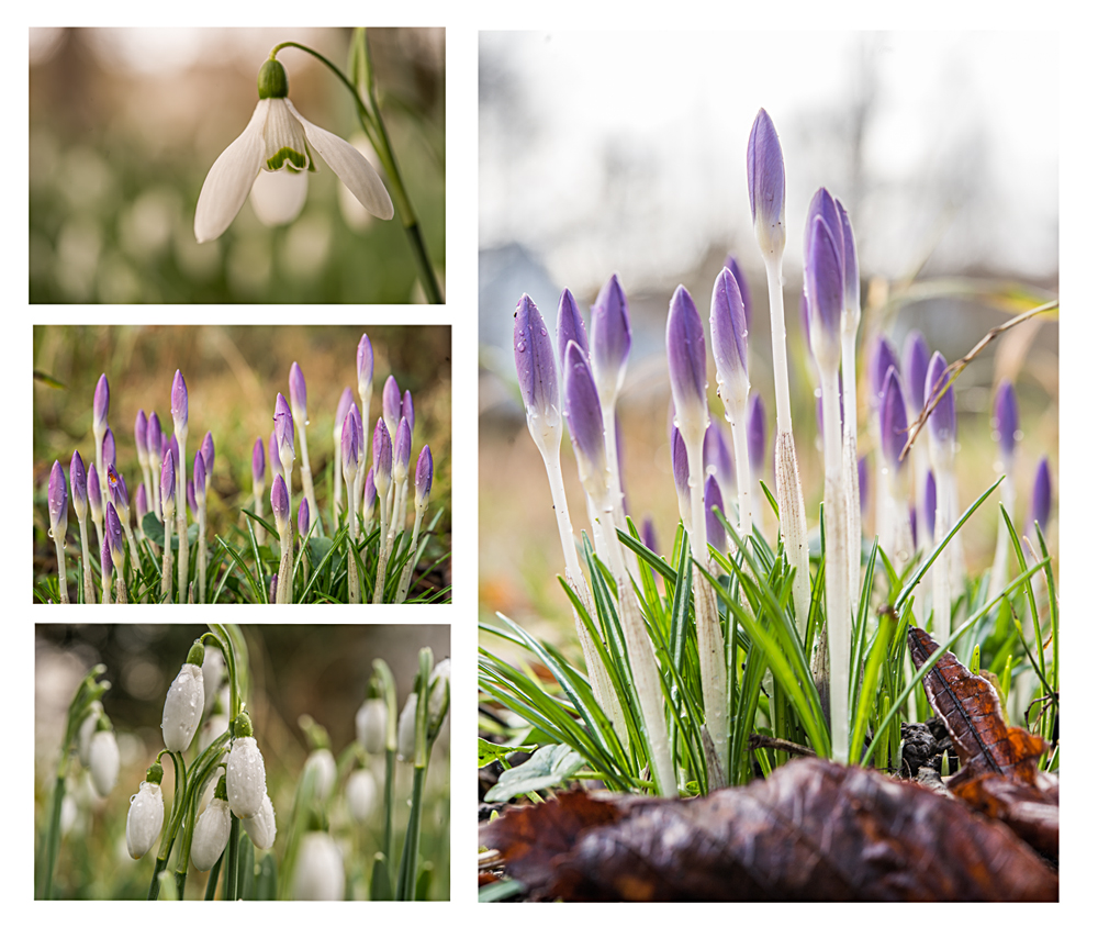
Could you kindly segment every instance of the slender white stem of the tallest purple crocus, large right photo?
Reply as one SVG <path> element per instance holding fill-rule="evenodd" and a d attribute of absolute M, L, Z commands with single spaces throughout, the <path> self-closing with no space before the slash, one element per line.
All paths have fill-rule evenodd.
<path fill-rule="evenodd" d="M 793 608 L 797 632 L 804 636 L 808 625 L 811 578 L 808 574 L 808 520 L 805 495 L 793 440 L 793 412 L 789 404 L 789 369 L 785 356 L 785 305 L 782 298 L 782 256 L 763 252 L 766 287 L 770 293 L 770 340 L 774 361 L 774 404 L 777 406 L 777 434 L 774 436 L 774 473 L 777 482 L 777 515 L 785 541 L 785 556 L 796 570 L 793 579 Z"/>

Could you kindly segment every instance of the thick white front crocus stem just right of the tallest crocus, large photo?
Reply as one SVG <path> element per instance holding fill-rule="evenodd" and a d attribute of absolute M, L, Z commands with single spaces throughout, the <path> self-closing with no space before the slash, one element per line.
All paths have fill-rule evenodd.
<path fill-rule="evenodd" d="M 842 426 L 839 411 L 839 371 L 820 370 L 824 392 L 824 521 L 827 570 L 828 660 L 831 696 L 831 758 L 850 757 L 850 577 L 847 566 L 847 494 L 842 467 Z"/>

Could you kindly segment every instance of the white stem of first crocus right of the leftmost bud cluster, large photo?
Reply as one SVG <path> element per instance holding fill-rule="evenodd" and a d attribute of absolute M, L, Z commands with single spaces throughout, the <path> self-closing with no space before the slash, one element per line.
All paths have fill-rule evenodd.
<path fill-rule="evenodd" d="M 702 570 L 712 572 L 709 545 L 705 541 L 705 467 L 702 444 L 705 424 L 701 428 L 690 427 L 679 418 L 680 432 L 686 445 L 686 461 L 690 466 L 691 554 L 694 557 L 694 622 L 697 626 L 698 672 L 702 677 L 702 702 L 705 707 L 705 726 L 713 738 L 713 746 L 720 762 L 720 777 L 726 779 L 725 769 L 728 753 L 728 697 L 725 691 L 728 672 L 725 668 L 725 639 L 720 633 L 720 615 L 709 581 Z M 685 426 L 685 427 L 684 427 Z M 724 782 L 716 783 L 724 784 Z M 714 783 L 710 783 L 710 788 Z"/>

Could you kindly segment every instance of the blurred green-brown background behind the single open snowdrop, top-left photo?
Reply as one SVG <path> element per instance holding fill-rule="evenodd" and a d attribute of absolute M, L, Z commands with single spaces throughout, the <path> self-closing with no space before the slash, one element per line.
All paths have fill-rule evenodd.
<path fill-rule="evenodd" d="M 372 219 L 323 163 L 290 225 L 261 225 L 245 203 L 219 239 L 194 241 L 202 181 L 251 118 L 270 49 L 296 41 L 345 68 L 349 36 L 30 30 L 31 302 L 422 302 L 400 220 Z M 371 29 L 368 41 L 382 114 L 441 277 L 445 31 Z M 279 60 L 305 119 L 352 143 L 362 136 L 350 93 L 327 68 L 295 48 Z"/>

